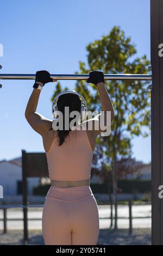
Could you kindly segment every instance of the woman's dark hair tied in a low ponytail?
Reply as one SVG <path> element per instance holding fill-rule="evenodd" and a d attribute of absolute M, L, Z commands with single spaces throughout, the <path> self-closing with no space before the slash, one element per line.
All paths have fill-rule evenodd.
<path fill-rule="evenodd" d="M 69 113 L 72 111 L 78 111 L 80 113 L 81 109 L 81 101 L 79 96 L 76 94 L 63 94 L 58 98 L 57 101 L 58 110 L 63 114 L 63 127 L 65 127 L 65 107 L 69 107 Z M 58 136 L 59 136 L 59 146 L 61 146 L 65 142 L 65 138 L 71 132 L 70 129 L 70 122 L 73 118 L 69 118 L 69 130 L 59 130 L 58 129 Z M 75 124 L 77 125 L 77 124 Z M 52 130 L 53 128 L 49 129 Z"/>

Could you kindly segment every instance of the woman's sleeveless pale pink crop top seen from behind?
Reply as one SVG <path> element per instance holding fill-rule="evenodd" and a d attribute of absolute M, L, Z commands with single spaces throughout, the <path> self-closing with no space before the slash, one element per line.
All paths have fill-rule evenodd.
<path fill-rule="evenodd" d="M 93 150 L 86 130 L 69 132 L 61 146 L 58 132 L 55 131 L 46 156 L 49 178 L 65 181 L 90 179 Z"/>

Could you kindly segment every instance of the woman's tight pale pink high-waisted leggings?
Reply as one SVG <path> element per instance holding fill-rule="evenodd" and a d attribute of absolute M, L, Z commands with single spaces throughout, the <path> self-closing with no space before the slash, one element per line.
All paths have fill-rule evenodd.
<path fill-rule="evenodd" d="M 90 186 L 49 189 L 42 212 L 45 245 L 97 245 L 98 206 Z"/>

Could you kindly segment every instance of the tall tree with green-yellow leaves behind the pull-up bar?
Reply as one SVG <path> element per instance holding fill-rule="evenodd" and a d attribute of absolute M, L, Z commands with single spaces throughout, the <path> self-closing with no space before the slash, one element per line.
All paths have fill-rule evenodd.
<path fill-rule="evenodd" d="M 131 43 L 130 36 L 118 27 L 113 27 L 108 35 L 95 40 L 86 46 L 87 64 L 79 61 L 79 73 L 89 74 L 90 70 L 102 70 L 104 74 L 146 74 L 149 60 L 146 55 L 135 57 L 136 46 Z M 78 72 L 76 72 L 78 74 Z M 105 163 L 105 170 L 114 188 L 115 204 L 115 229 L 117 228 L 117 167 L 116 163 L 124 156 L 131 157 L 131 139 L 134 136 L 147 137 L 148 132 L 142 131 L 142 126 L 150 127 L 150 95 L 145 93 L 143 87 L 147 82 L 142 81 L 105 81 L 106 89 L 111 97 L 115 109 L 115 118 L 111 124 L 111 135 L 108 137 L 98 136 L 97 153 L 99 149 Z M 67 88 L 65 88 L 67 89 Z M 65 90 L 64 89 L 64 90 Z M 81 93 L 91 111 L 101 111 L 99 95 L 93 84 L 85 81 L 77 81 L 74 88 Z M 60 83 L 57 83 L 52 99 L 61 91 Z M 95 161 L 96 162 L 96 161 Z"/>

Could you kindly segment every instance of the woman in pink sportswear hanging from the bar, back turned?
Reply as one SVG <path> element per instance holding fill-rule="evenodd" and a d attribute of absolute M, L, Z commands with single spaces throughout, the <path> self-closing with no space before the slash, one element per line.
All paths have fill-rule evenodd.
<path fill-rule="evenodd" d="M 102 130 L 95 125 L 97 118 L 82 123 L 86 102 L 82 95 L 73 91 L 66 91 L 55 97 L 52 110 L 54 121 L 36 112 L 42 87 L 55 81 L 57 80 L 53 80 L 47 71 L 36 72 L 34 89 L 25 113 L 30 126 L 42 136 L 51 178 L 51 188 L 42 213 L 43 239 L 46 245 L 97 245 L 99 215 L 97 202 L 90 188 L 90 173 L 96 137 Z M 104 114 L 110 111 L 112 121 L 114 108 L 104 86 L 103 72 L 91 71 L 87 82 L 97 87 L 102 111 Z M 69 113 L 78 111 L 81 122 L 76 121 L 73 129 L 69 126 L 67 130 L 60 127 L 57 130 L 54 127 L 54 122 L 59 117 L 57 111 L 62 113 L 65 120 L 65 107 L 69 107 Z M 105 115 L 104 117 L 106 119 Z M 100 118 L 99 116 L 98 122 Z M 68 124 L 71 121 L 72 118 L 68 119 Z M 81 127 L 85 129 L 79 129 Z"/>

